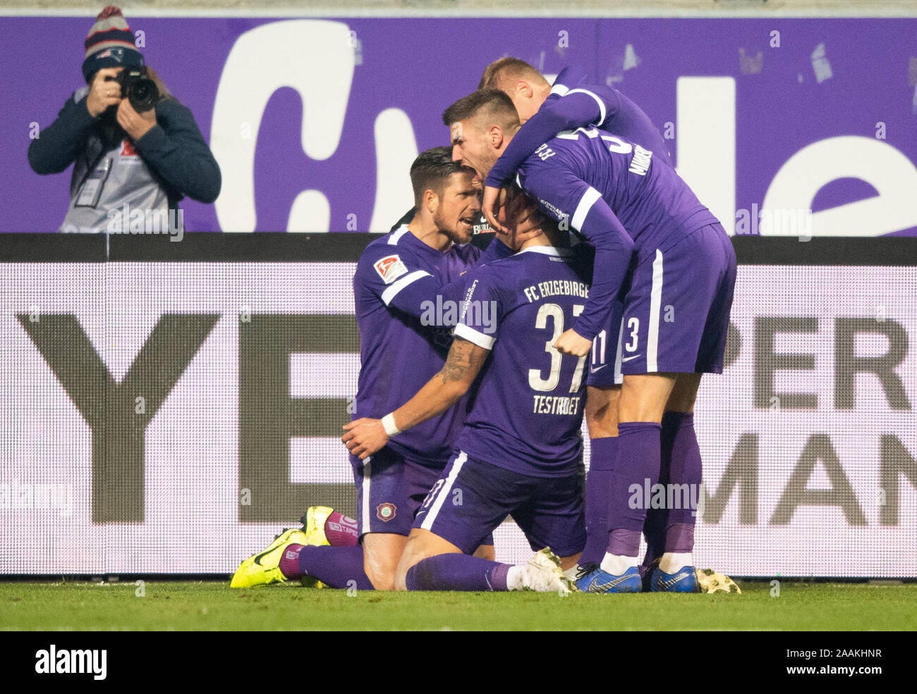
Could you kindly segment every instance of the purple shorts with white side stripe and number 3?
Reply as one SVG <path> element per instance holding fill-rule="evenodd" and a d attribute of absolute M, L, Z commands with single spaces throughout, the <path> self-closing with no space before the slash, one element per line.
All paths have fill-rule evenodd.
<path fill-rule="evenodd" d="M 721 374 L 735 287 L 735 252 L 708 224 L 640 259 L 624 298 L 614 371 Z"/>

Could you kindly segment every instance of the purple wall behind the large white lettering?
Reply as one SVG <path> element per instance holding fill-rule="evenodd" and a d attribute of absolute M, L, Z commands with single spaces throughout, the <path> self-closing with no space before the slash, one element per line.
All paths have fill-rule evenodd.
<path fill-rule="evenodd" d="M 144 31 L 143 52 L 149 64 L 191 108 L 208 140 L 217 85 L 234 43 L 255 27 L 283 21 L 133 16 L 127 20 L 135 32 Z M 332 231 L 347 230 L 352 220 L 358 231 L 368 231 L 377 185 L 377 115 L 392 107 L 403 110 L 418 149 L 447 144 L 447 129 L 440 121 L 443 109 L 477 86 L 490 60 L 506 54 L 533 62 L 546 73 L 579 63 L 597 81 L 612 80 L 660 129 L 666 123 L 675 125 L 673 154 L 679 136 L 679 77 L 734 78 L 736 209 L 761 205 L 779 168 L 802 147 L 836 136 L 877 140 L 878 123 L 885 124 L 885 139 L 878 141 L 897 149 L 911 168 L 917 164 L 914 19 L 339 21 L 356 32 L 359 42 L 340 143 L 325 160 L 308 157 L 300 142 L 302 100 L 290 88 L 273 93 L 263 110 L 255 149 L 254 199 L 260 231 L 286 229 L 293 200 L 308 189 L 325 195 Z M 90 16 L 0 17 L 0 32 L 6 37 L 0 46 L 5 99 L 0 128 L 3 231 L 52 231 L 61 223 L 70 175 L 40 177 L 31 171 L 26 158 L 29 124 L 50 125 L 64 100 L 81 86 L 83 39 L 91 24 Z M 779 48 L 770 45 L 773 31 L 779 31 Z M 49 47 L 49 41 L 56 45 Z M 812 58 L 819 44 L 831 71 L 831 77 L 821 82 Z M 628 45 L 636 64 L 624 70 Z M 745 70 L 740 49 L 751 59 Z M 275 58 L 281 64 L 286 52 L 267 47 L 262 55 L 266 65 Z M 824 61 L 816 62 L 824 78 Z M 306 67 L 318 74 L 329 65 L 315 60 Z M 226 88 L 234 87 L 227 83 Z M 402 175 L 406 179 L 406 168 Z M 824 186 L 812 210 L 876 195 L 877 188 L 884 193 L 880 186 L 846 177 Z M 913 190 L 917 193 L 917 186 Z M 889 205 L 898 204 L 905 205 L 889 199 Z M 213 205 L 185 201 L 183 207 L 189 230 L 220 228 Z M 907 211 L 900 217 L 900 228 L 890 231 L 917 233 L 917 219 Z M 865 228 L 862 233 L 889 230 Z"/>

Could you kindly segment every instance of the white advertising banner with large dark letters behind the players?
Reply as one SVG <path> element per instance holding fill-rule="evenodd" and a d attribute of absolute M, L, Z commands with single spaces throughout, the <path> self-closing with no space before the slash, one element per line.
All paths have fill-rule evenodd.
<path fill-rule="evenodd" d="M 229 573 L 308 505 L 353 515 L 353 269 L 0 264 L 0 573 Z M 915 296 L 913 267 L 739 267 L 697 564 L 917 576 Z"/>

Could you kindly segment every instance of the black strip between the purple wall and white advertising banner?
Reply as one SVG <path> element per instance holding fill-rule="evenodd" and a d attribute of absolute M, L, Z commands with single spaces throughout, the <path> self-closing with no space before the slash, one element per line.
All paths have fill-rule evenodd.
<path fill-rule="evenodd" d="M 376 233 L 2 233 L 0 263 L 352 263 Z M 483 240 L 483 239 L 481 239 Z M 734 236 L 739 265 L 917 266 L 917 236 Z"/>

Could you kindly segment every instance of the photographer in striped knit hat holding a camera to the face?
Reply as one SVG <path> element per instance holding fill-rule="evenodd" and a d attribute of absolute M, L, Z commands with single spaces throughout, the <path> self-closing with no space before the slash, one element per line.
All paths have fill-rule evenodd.
<path fill-rule="evenodd" d="M 105 7 L 85 41 L 86 87 L 74 92 L 57 120 L 28 147 L 38 174 L 73 166 L 70 206 L 61 232 L 143 231 L 121 211 L 168 214 L 181 225 L 187 195 L 213 202 L 220 169 L 193 115 L 144 63 L 121 10 Z M 149 230 L 147 230 L 149 231 Z M 182 230 L 183 231 L 183 230 Z"/>

